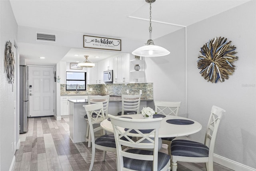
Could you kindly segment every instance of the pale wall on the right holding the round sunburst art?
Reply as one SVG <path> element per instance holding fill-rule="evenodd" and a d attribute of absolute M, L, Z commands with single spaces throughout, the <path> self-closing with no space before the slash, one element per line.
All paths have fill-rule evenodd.
<path fill-rule="evenodd" d="M 214 153 L 256 168 L 256 2 L 251 1 L 188 26 L 188 116 L 202 123 L 212 105 L 226 109 Z M 236 46 L 236 70 L 225 82 L 206 82 L 197 69 L 197 54 L 209 39 L 225 37 Z M 202 139 L 204 133 L 194 139 Z"/>

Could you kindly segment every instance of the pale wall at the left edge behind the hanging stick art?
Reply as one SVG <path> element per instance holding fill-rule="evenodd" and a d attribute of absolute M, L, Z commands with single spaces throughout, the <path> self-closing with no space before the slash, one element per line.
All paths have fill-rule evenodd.
<path fill-rule="evenodd" d="M 4 72 L 4 50 L 6 42 L 17 42 L 17 23 L 9 1 L 0 1 L 0 170 L 8 171 L 14 158 L 14 92 L 12 85 L 6 81 Z M 18 58 L 16 59 L 18 60 Z M 17 71 L 16 71 L 17 72 Z M 18 86 L 18 85 L 17 85 Z M 17 99 L 18 100 L 18 99 Z"/>

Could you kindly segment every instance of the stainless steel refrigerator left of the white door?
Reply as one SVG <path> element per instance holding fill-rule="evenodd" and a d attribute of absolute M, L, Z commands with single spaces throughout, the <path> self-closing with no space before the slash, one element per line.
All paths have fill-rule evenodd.
<path fill-rule="evenodd" d="M 20 133 L 28 131 L 29 91 L 28 67 L 20 65 Z"/>

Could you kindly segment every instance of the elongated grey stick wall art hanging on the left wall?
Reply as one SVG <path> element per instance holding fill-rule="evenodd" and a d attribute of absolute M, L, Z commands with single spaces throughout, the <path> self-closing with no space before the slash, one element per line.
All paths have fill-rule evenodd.
<path fill-rule="evenodd" d="M 14 82 L 14 55 L 12 52 L 12 43 L 10 42 L 6 42 L 6 46 L 5 46 L 5 52 L 4 52 L 4 68 L 6 71 L 6 75 L 7 75 L 7 81 L 9 84 L 12 84 Z"/>

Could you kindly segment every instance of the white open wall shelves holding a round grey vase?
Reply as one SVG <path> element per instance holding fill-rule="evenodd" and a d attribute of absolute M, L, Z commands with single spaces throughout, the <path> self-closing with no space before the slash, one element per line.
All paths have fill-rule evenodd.
<path fill-rule="evenodd" d="M 140 56 L 140 59 L 135 59 L 134 55 L 130 55 L 130 82 L 144 83 L 145 82 L 145 60 Z"/>

